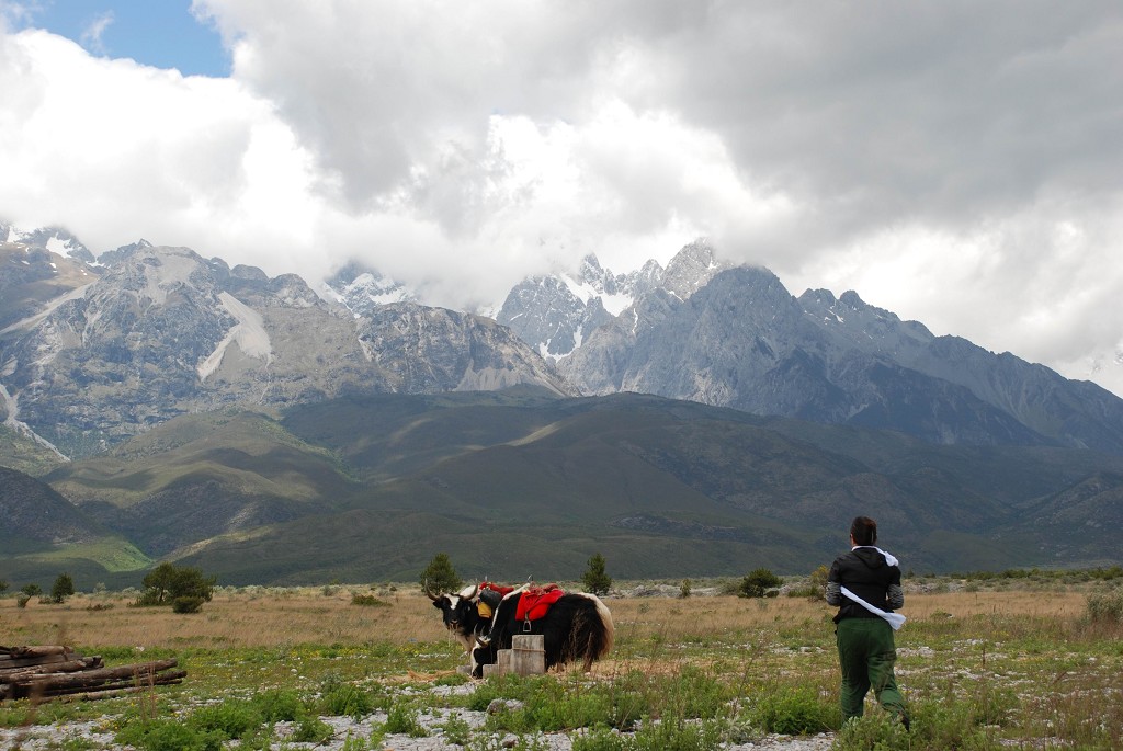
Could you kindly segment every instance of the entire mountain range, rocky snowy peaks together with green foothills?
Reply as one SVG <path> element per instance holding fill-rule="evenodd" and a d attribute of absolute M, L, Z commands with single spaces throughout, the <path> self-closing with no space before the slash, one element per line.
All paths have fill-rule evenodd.
<path fill-rule="evenodd" d="M 629 274 L 588 256 L 492 318 L 357 265 L 313 290 L 0 239 L 0 497 L 73 512 L 6 529 L 9 579 L 380 578 L 437 550 L 520 578 L 600 549 L 621 575 L 803 570 L 858 511 L 935 570 L 1121 558 L 1123 400 L 704 241 Z"/>

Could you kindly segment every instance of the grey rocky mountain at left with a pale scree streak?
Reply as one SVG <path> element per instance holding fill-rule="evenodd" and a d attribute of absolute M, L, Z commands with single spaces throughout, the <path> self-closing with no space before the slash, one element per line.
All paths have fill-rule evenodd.
<path fill-rule="evenodd" d="M 358 317 L 298 276 L 137 244 L 0 331 L 0 404 L 69 456 L 186 412 L 343 393 L 569 386 L 490 319 L 402 302 Z"/>

